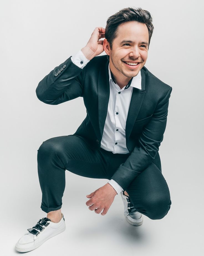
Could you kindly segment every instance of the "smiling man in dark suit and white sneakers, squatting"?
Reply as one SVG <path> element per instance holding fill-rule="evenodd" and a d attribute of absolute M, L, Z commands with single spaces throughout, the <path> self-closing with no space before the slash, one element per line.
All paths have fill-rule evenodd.
<path fill-rule="evenodd" d="M 86 205 L 97 214 L 106 215 L 119 193 L 131 225 L 141 225 L 143 214 L 155 220 L 168 213 L 170 193 L 158 151 L 172 87 L 144 67 L 153 29 L 148 11 L 124 8 L 39 82 L 39 100 L 57 105 L 83 97 L 87 115 L 73 135 L 48 139 L 39 147 L 41 209 L 47 217 L 28 229 L 16 250 L 34 250 L 65 230 L 66 170 L 109 179 L 86 195 Z M 98 56 L 103 51 L 106 55 Z"/>

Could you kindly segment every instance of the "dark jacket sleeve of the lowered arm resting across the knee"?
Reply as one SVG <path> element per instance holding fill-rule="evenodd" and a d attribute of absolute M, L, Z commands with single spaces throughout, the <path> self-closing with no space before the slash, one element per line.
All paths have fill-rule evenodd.
<path fill-rule="evenodd" d="M 126 161 L 119 166 L 111 179 L 114 179 L 126 190 L 129 184 L 154 160 L 163 140 L 167 123 L 169 98 L 172 87 L 158 102 L 149 123 L 143 127 L 139 137 L 139 146 L 136 146 Z"/>

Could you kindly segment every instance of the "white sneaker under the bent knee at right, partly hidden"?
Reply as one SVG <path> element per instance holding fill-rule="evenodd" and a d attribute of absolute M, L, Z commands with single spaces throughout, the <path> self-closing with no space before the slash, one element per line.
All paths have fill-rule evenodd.
<path fill-rule="evenodd" d="M 121 191 L 121 197 L 124 204 L 124 215 L 128 223 L 133 226 L 140 226 L 143 223 L 143 215 L 136 211 L 134 206 L 130 201 L 130 197 L 124 194 L 124 191 Z"/>

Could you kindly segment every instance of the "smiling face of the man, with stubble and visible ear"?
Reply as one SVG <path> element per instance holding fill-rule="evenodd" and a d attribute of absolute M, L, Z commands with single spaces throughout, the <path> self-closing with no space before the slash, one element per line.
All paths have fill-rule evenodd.
<path fill-rule="evenodd" d="M 148 42 L 149 33 L 145 24 L 129 21 L 119 25 L 118 36 L 113 40 L 112 50 L 107 40 L 104 42 L 104 50 L 110 56 L 110 69 L 115 77 L 124 80 L 139 73 L 147 60 Z M 125 61 L 138 64 L 132 66 Z"/>

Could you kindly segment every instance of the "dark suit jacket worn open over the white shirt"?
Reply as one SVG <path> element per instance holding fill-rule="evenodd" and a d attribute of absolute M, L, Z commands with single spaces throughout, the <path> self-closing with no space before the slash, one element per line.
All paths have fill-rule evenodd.
<path fill-rule="evenodd" d="M 74 133 L 99 149 L 109 101 L 108 55 L 95 56 L 82 69 L 71 56 L 46 75 L 36 88 L 38 99 L 57 105 L 83 97 L 86 118 Z M 64 67 L 64 68 L 63 68 Z M 58 72 L 58 75 L 57 75 Z M 152 161 L 161 170 L 159 146 L 167 123 L 172 87 L 141 69 L 142 89 L 134 88 L 126 122 L 127 160 L 111 177 L 125 190 Z"/>

